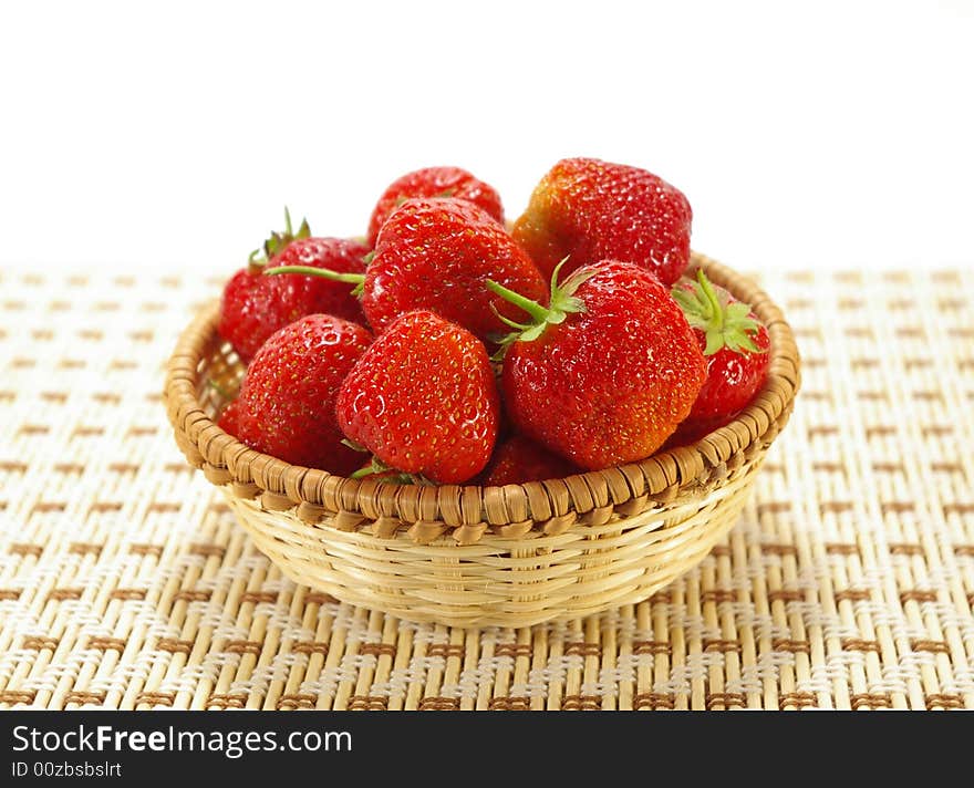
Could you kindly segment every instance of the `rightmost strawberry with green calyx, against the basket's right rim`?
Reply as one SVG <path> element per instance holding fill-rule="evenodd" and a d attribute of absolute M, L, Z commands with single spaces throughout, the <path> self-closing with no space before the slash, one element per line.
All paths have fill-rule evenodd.
<path fill-rule="evenodd" d="M 715 287 L 703 270 L 673 288 L 707 363 L 707 379 L 677 439 L 687 443 L 722 427 L 750 402 L 768 373 L 768 330 L 746 303 Z"/>

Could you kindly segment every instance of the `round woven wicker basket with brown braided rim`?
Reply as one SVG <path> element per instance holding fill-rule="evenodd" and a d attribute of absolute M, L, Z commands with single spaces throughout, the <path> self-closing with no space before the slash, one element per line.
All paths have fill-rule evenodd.
<path fill-rule="evenodd" d="M 771 338 L 752 405 L 692 446 L 504 487 L 381 485 L 289 465 L 214 423 L 219 392 L 236 394 L 244 373 L 217 335 L 216 302 L 169 360 L 176 443 L 284 574 L 341 601 L 421 622 L 529 626 L 644 600 L 735 522 L 799 385 L 780 310 L 724 266 L 700 255 L 691 265 L 748 301 Z"/>

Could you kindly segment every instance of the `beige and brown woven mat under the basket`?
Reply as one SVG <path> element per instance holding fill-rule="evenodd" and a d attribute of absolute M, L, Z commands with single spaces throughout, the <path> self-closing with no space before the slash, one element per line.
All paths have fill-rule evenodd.
<path fill-rule="evenodd" d="M 218 281 L 0 277 L 0 706 L 974 708 L 974 290 L 766 273 L 804 356 L 755 499 L 693 572 L 464 631 L 283 579 L 175 448 L 163 365 Z"/>

